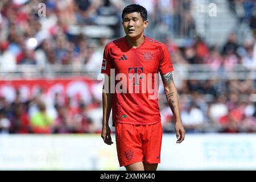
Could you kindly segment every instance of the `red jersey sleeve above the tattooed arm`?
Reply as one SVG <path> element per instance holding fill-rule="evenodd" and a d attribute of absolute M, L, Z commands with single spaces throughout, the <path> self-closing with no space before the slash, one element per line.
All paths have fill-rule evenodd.
<path fill-rule="evenodd" d="M 162 46 L 160 48 L 160 61 L 159 61 L 158 71 L 160 72 L 160 75 L 174 71 L 171 56 L 169 55 L 169 52 L 166 46 Z"/>

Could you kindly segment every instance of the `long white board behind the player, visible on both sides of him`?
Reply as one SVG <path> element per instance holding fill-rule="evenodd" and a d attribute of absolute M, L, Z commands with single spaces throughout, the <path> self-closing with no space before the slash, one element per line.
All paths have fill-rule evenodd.
<path fill-rule="evenodd" d="M 0 135 L 0 170 L 124 170 L 100 135 Z M 256 170 L 256 134 L 163 135 L 159 170 Z"/>

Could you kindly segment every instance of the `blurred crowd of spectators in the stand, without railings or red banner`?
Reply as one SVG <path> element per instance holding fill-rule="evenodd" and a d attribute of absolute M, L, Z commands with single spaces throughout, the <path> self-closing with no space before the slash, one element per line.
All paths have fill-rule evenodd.
<path fill-rule="evenodd" d="M 119 14 L 123 7 L 129 3 L 145 3 L 139 0 L 48 0 L 43 1 L 46 4 L 46 17 L 39 17 L 39 2 L 42 1 L 0 2 L 1 70 L 11 73 L 15 72 L 19 65 L 31 64 L 43 71 L 51 65 L 72 64 L 79 67 L 85 65 L 88 73 L 99 74 L 102 53 L 111 38 L 101 37 L 92 40 L 84 34 L 73 35 L 70 26 L 92 25 L 98 15 L 104 14 L 104 7 L 111 7 L 114 10 L 113 15 L 118 18 L 118 23 L 112 27 L 115 36 L 122 36 L 119 33 L 121 31 L 117 30 L 120 28 Z M 252 22 L 256 18 L 256 3 L 230 1 L 230 5 L 234 4 L 237 7 L 236 12 L 240 12 L 238 10 L 245 12 L 242 19 L 246 19 L 254 30 L 255 24 Z M 167 27 L 175 35 L 179 34 L 180 30 L 184 30 L 184 35 L 190 38 L 189 35 L 195 33 L 189 0 L 151 0 L 143 6 L 148 10 L 150 20 L 159 27 Z M 180 11 L 176 12 L 177 6 L 183 10 L 183 14 L 180 14 Z M 238 15 L 237 17 L 239 18 Z M 185 23 L 179 24 L 179 22 Z M 148 29 L 146 35 L 151 36 L 152 32 L 150 28 Z M 175 45 L 170 38 L 166 38 L 164 43 L 175 67 L 206 64 L 219 75 L 225 76 L 226 71 L 232 70 L 238 64 L 247 73 L 255 70 L 255 40 L 256 38 L 238 44 L 236 34 L 232 32 L 222 48 L 208 46 L 199 36 L 182 47 Z M 187 133 L 256 132 L 255 84 L 255 80 L 251 78 L 177 81 L 181 118 Z M 59 99 L 59 97 L 61 96 L 56 94 L 51 107 L 56 115 L 51 117 L 47 112 L 43 93 L 39 92 L 24 101 L 20 97 L 19 90 L 16 90 L 16 98 L 13 102 L 8 102 L 1 96 L 0 133 L 99 133 L 101 131 L 99 117 L 102 115 L 102 109 L 99 98 L 93 97 L 89 104 L 79 100 L 74 106 L 70 102 L 71 98 Z M 159 92 L 159 106 L 164 132 L 174 132 L 174 118 L 167 105 L 162 86 Z"/>

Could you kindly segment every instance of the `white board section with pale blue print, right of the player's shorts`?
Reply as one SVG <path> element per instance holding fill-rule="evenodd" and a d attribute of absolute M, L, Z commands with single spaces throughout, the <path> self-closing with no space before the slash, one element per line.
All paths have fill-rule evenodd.
<path fill-rule="evenodd" d="M 165 135 L 164 170 L 256 170 L 255 134 L 187 134 L 181 144 Z"/>

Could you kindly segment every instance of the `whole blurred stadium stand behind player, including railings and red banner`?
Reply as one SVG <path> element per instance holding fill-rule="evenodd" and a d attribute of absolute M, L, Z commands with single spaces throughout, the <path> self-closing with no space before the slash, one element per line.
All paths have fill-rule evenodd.
<path fill-rule="evenodd" d="M 216 19 L 199 0 L 3 0 L 0 133 L 99 133 L 102 53 L 123 36 L 130 3 L 148 9 L 146 35 L 168 47 L 187 133 L 256 132 L 255 1 L 214 1 Z M 159 90 L 164 132 L 174 133 Z"/>

